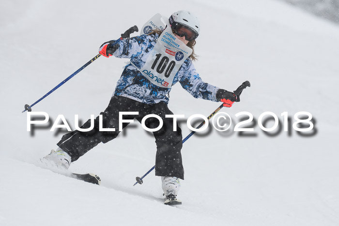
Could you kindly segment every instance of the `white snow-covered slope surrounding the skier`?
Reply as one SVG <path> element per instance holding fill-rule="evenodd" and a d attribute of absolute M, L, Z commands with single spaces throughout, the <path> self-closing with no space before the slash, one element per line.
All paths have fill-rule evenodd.
<path fill-rule="evenodd" d="M 132 186 L 155 159 L 154 138 L 137 122 L 70 167 L 98 174 L 101 186 L 39 167 L 62 134 L 45 128 L 31 136 L 24 105 L 91 60 L 103 42 L 180 9 L 201 21 L 195 66 L 203 80 L 227 90 L 251 82 L 241 102 L 223 112 L 239 121 L 241 111 L 257 120 L 272 111 L 282 121 L 282 112 L 293 119 L 308 111 L 317 133 L 304 137 L 290 128 L 291 136 L 269 137 L 256 124 L 255 137 L 213 128 L 192 136 L 182 150 L 177 207 L 163 205 L 154 172 Z M 274 0 L 5 0 L 0 40 L 1 226 L 339 225 L 339 28 L 332 23 Z M 52 120 L 62 114 L 74 128 L 75 114 L 85 121 L 106 108 L 126 61 L 101 57 L 33 110 Z M 186 118 L 208 116 L 218 105 L 180 85 L 170 93 L 170 109 Z"/>

